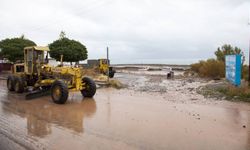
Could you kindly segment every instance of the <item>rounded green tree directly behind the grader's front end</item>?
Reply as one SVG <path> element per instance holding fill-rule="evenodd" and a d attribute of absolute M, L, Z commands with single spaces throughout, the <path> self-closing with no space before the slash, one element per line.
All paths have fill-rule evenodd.
<path fill-rule="evenodd" d="M 63 34 L 62 34 L 63 33 Z M 66 62 L 78 62 L 88 58 L 86 47 L 75 40 L 65 37 L 65 33 L 61 32 L 58 40 L 49 44 L 50 56 L 57 61 L 60 61 L 61 55 Z"/>

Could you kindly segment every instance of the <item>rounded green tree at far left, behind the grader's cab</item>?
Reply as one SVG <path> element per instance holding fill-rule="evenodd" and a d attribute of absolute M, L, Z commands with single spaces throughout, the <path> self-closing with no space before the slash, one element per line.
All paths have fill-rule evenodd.
<path fill-rule="evenodd" d="M 7 38 L 0 41 L 1 54 L 11 62 L 23 60 L 23 49 L 26 46 L 36 46 L 36 43 L 25 39 L 24 35 L 19 38 Z"/>

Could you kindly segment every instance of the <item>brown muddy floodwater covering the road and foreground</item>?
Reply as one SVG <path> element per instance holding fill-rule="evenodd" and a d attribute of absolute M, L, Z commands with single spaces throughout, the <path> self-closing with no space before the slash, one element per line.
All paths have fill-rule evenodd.
<path fill-rule="evenodd" d="M 124 89 L 25 100 L 0 80 L 0 149 L 250 150 L 249 103 L 206 99 L 205 81 L 118 73 Z"/>

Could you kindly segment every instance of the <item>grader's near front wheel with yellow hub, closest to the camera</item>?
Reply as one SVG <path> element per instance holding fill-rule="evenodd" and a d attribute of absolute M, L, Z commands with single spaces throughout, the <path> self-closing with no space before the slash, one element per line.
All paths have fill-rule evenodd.
<path fill-rule="evenodd" d="M 51 97 L 54 103 L 64 104 L 69 96 L 67 85 L 62 80 L 56 80 L 51 87 Z"/>

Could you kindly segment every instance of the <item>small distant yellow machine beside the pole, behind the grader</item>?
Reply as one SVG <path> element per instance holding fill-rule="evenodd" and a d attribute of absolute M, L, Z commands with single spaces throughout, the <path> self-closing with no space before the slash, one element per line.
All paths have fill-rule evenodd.
<path fill-rule="evenodd" d="M 100 73 L 108 75 L 110 78 L 114 77 L 116 71 L 113 69 L 113 67 L 110 67 L 108 59 L 98 59 L 98 64 Z"/>

